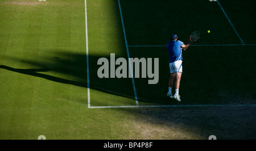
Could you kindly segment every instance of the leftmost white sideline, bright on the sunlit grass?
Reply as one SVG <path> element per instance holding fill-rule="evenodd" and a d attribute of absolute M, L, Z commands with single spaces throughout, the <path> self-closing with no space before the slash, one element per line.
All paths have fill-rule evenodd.
<path fill-rule="evenodd" d="M 88 107 L 90 107 L 90 78 L 89 78 L 89 47 L 88 47 L 88 27 L 87 27 L 87 5 L 84 0 L 85 7 L 85 39 L 86 39 L 86 66 L 87 66 L 87 93 L 88 93 Z"/>

